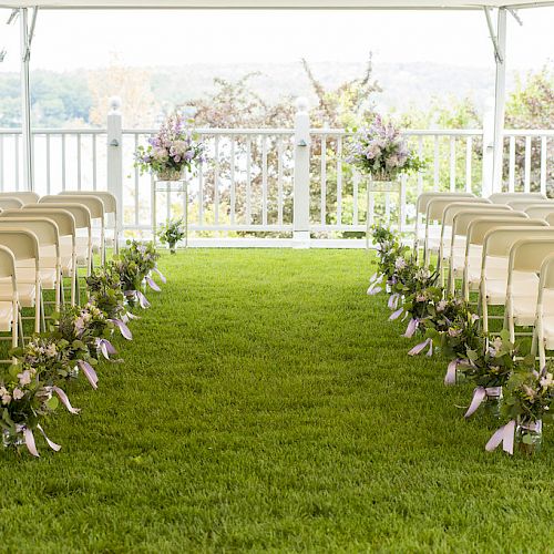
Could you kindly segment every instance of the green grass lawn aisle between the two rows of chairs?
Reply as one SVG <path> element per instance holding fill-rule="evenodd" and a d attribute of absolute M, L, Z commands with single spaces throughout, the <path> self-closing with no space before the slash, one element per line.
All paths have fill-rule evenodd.
<path fill-rule="evenodd" d="M 486 453 L 359 250 L 165 255 L 125 359 L 0 451 L 0 552 L 552 552 L 554 440 Z"/>

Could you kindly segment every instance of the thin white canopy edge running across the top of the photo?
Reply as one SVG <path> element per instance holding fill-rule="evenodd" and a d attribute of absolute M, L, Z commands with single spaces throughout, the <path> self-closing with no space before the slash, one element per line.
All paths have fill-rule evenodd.
<path fill-rule="evenodd" d="M 1 8 L 43 9 L 452 9 L 533 8 L 553 0 L 0 0 Z"/>

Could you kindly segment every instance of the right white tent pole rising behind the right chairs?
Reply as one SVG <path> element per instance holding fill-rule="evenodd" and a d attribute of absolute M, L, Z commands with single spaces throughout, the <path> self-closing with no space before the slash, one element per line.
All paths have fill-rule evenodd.
<path fill-rule="evenodd" d="M 502 167 L 504 154 L 504 107 L 506 93 L 506 9 L 499 8 L 496 25 L 496 76 L 494 81 L 494 154 L 492 192 L 502 191 Z"/>

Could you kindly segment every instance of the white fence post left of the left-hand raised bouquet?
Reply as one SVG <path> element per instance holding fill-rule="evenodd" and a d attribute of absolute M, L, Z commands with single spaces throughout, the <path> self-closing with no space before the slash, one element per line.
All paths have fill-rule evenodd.
<path fill-rule="evenodd" d="M 117 201 L 116 236 L 123 223 L 123 135 L 121 117 L 121 99 L 110 99 L 107 114 L 107 191 Z"/>

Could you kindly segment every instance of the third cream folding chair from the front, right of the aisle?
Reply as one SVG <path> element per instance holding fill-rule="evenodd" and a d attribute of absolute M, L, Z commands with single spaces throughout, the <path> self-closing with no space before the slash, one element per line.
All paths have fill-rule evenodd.
<path fill-rule="evenodd" d="M 529 222 L 529 219 L 527 219 Z M 510 225 L 489 230 L 483 239 L 483 255 L 481 263 L 480 283 L 480 315 L 482 316 L 483 331 L 489 332 L 489 306 L 504 306 L 507 288 L 507 266 L 503 275 L 488 271 L 489 257 L 510 256 L 512 246 L 522 238 L 554 238 L 554 228 L 542 225 L 527 227 Z M 534 273 L 513 271 L 512 290 L 516 295 L 536 290 L 538 277 Z"/>

